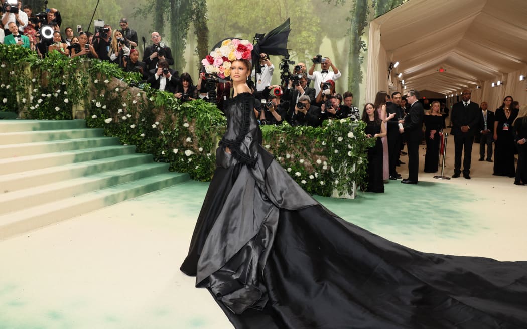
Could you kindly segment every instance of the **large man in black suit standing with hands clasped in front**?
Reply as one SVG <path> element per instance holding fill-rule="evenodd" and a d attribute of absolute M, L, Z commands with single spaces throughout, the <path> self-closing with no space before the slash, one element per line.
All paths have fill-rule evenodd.
<path fill-rule="evenodd" d="M 472 144 L 474 133 L 479 128 L 480 106 L 470 101 L 472 92 L 465 89 L 462 94 L 462 101 L 452 106 L 452 130 L 454 135 L 454 175 L 459 177 L 461 174 L 461 153 L 465 149 L 463 158 L 463 177 L 470 180 L 470 163 L 472 159 Z"/>

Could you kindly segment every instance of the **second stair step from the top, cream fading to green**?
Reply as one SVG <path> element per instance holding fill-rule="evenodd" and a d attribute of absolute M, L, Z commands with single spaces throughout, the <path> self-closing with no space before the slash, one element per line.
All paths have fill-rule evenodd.
<path fill-rule="evenodd" d="M 61 141 L 64 139 L 79 139 L 102 136 L 104 136 L 104 129 L 89 128 L 27 131 L 14 133 L 0 132 L 0 145 L 50 142 Z"/>

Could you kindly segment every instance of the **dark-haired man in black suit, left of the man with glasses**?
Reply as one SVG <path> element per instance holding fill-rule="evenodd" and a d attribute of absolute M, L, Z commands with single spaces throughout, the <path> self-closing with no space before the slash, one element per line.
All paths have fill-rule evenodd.
<path fill-rule="evenodd" d="M 395 116 L 387 122 L 387 137 L 388 137 L 388 157 L 389 157 L 389 173 L 391 180 L 403 178 L 397 173 L 397 162 L 399 161 L 399 151 L 401 150 L 401 134 L 399 134 L 399 118 L 404 116 L 401 108 L 401 93 L 395 92 L 392 94 L 392 102 L 386 102 L 386 114 L 395 113 Z"/>

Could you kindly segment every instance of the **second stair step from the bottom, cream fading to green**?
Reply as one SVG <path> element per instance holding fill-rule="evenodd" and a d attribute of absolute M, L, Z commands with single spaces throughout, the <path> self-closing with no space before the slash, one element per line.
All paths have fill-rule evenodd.
<path fill-rule="evenodd" d="M 66 197 L 128 183 L 146 176 L 166 173 L 168 172 L 168 167 L 169 165 L 167 163 L 141 164 L 0 194 L 0 214 L 23 209 L 28 204 L 28 201 L 31 202 L 32 206 L 36 206 Z"/>

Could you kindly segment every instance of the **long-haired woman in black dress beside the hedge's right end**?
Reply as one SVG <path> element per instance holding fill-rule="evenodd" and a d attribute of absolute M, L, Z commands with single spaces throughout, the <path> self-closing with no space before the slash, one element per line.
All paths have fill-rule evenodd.
<path fill-rule="evenodd" d="M 366 123 L 364 133 L 368 138 L 375 138 L 375 145 L 368 149 L 368 187 L 367 192 L 384 192 L 383 180 L 383 142 L 380 137 L 386 136 L 383 121 L 375 111 L 375 105 L 367 103 L 364 106 L 362 121 Z"/>

